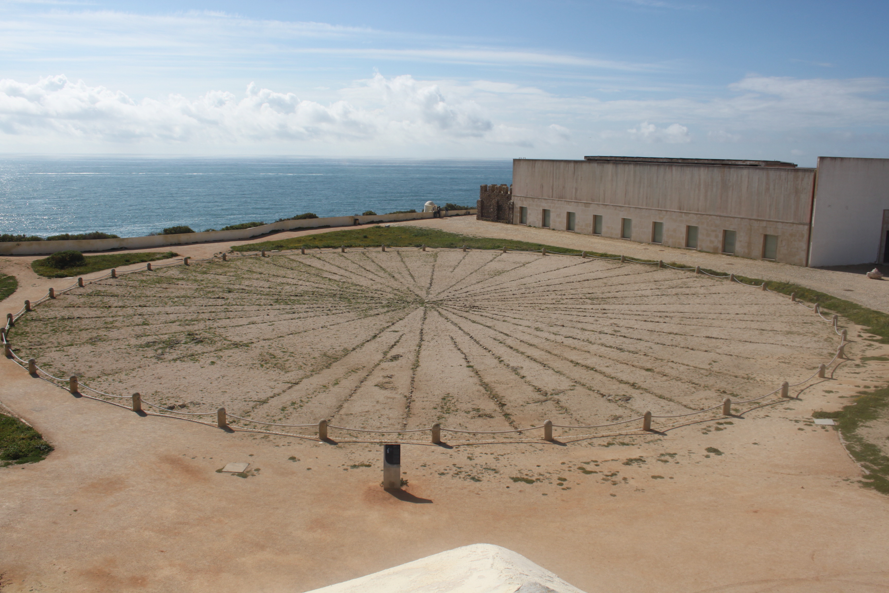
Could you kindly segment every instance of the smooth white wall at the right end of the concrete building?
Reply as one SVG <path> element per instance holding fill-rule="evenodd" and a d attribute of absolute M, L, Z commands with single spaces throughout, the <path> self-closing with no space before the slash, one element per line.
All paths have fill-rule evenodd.
<path fill-rule="evenodd" d="M 821 156 L 809 266 L 872 263 L 889 210 L 889 158 Z"/>

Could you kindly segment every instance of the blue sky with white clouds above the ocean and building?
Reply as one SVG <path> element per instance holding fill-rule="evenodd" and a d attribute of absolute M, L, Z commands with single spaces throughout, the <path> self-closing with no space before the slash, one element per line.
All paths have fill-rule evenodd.
<path fill-rule="evenodd" d="M 0 153 L 889 157 L 889 3 L 0 0 Z"/>

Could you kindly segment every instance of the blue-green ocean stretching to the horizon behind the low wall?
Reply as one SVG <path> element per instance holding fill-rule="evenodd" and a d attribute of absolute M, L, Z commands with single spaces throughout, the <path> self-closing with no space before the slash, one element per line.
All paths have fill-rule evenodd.
<path fill-rule="evenodd" d="M 323 157 L 0 156 L 0 234 L 144 236 L 274 222 L 475 206 L 478 186 L 511 183 L 509 160 Z"/>

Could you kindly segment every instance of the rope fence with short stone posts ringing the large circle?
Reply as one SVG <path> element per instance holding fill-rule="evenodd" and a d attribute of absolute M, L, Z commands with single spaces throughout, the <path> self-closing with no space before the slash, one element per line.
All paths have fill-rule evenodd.
<path fill-rule="evenodd" d="M 336 248 L 328 249 L 326 251 L 334 252 L 334 251 L 339 250 L 340 252 L 346 252 L 346 249 L 347 249 L 346 247 L 336 247 Z M 369 249 L 370 248 L 364 248 L 363 251 L 368 251 Z M 392 248 L 390 247 L 389 249 L 392 249 Z M 728 279 L 729 282 L 735 282 L 735 283 L 741 284 L 743 286 L 747 286 L 749 288 L 759 288 L 762 291 L 772 292 L 773 294 L 779 294 L 779 295 L 783 296 L 781 294 L 781 292 L 775 292 L 775 291 L 769 289 L 767 286 L 767 283 L 765 283 L 765 282 L 763 282 L 762 284 L 746 284 L 744 282 L 741 282 L 741 280 L 739 280 L 738 278 L 736 278 L 734 276 L 734 274 L 726 274 L 725 276 L 720 276 L 720 275 L 710 274 L 709 272 L 702 270 L 700 267 L 681 268 L 681 267 L 670 266 L 669 264 L 665 264 L 662 260 L 659 260 L 659 261 L 633 260 L 633 259 L 623 256 L 623 255 L 613 256 L 613 257 L 603 257 L 603 256 L 589 255 L 587 252 L 576 252 L 576 253 L 574 253 L 574 252 L 548 252 L 545 247 L 538 249 L 538 250 L 531 250 L 531 251 L 509 249 L 508 247 L 505 247 L 505 246 L 502 248 L 476 250 L 476 249 L 469 248 L 466 245 L 463 245 L 462 247 L 436 247 L 436 248 L 428 248 L 426 245 L 421 245 L 420 247 L 395 248 L 395 251 L 409 251 L 409 250 L 417 250 L 417 249 L 421 249 L 424 252 L 427 251 L 428 249 L 435 249 L 437 251 L 461 250 L 463 252 L 467 252 L 469 250 L 471 250 L 471 251 L 502 251 L 504 253 L 506 253 L 506 252 L 523 252 L 523 253 L 541 253 L 541 255 L 543 255 L 543 256 L 568 255 L 568 256 L 581 256 L 581 258 L 593 259 L 593 260 L 611 260 L 611 261 L 620 260 L 621 263 L 637 263 L 637 264 L 645 264 L 645 265 L 655 265 L 658 268 L 667 267 L 667 268 L 684 270 L 684 271 L 692 271 L 693 270 L 695 274 L 704 274 L 706 276 L 710 276 L 710 277 L 714 277 L 714 278 L 718 278 L 718 279 Z M 382 252 L 386 252 L 386 250 L 387 250 L 386 245 L 381 245 L 380 250 Z M 257 256 L 268 257 L 268 255 L 266 254 L 267 251 L 274 252 L 274 253 L 277 253 L 280 255 L 284 255 L 284 254 L 296 253 L 296 252 L 300 252 L 300 254 L 305 254 L 307 251 L 324 252 L 324 249 L 319 247 L 316 249 L 307 250 L 305 247 L 301 247 L 298 250 L 297 249 L 278 250 L 278 251 L 263 250 L 261 252 L 236 253 L 235 255 L 236 255 L 236 257 L 257 257 Z M 228 261 L 228 257 L 231 257 L 231 255 L 233 255 L 233 254 L 232 253 L 222 253 L 219 257 L 213 256 L 211 258 L 206 258 L 203 260 L 192 260 L 191 258 L 186 257 L 186 258 L 183 258 L 182 260 L 174 261 L 172 263 L 156 265 L 154 268 L 166 268 L 169 266 L 178 266 L 178 265 L 188 266 L 193 263 L 215 261 L 215 260 Z M 27 368 L 28 373 L 30 373 L 33 376 L 39 377 L 42 373 L 45 377 L 51 379 L 52 381 L 58 381 L 59 383 L 67 383 L 68 390 L 72 394 L 76 394 L 80 397 L 87 397 L 88 399 L 93 399 L 93 400 L 100 401 L 100 402 L 105 402 L 105 403 L 111 404 L 111 405 L 117 405 L 119 407 L 123 407 L 126 409 L 132 409 L 132 411 L 136 412 L 136 413 L 142 413 L 142 414 L 151 415 L 151 416 L 162 416 L 162 417 L 166 417 L 166 418 L 177 418 L 179 420 L 185 420 L 185 421 L 195 421 L 200 424 L 204 424 L 206 426 L 213 426 L 213 424 L 210 422 L 198 421 L 198 420 L 194 420 L 191 418 L 182 418 L 181 416 L 212 416 L 215 414 L 217 417 L 215 426 L 219 427 L 220 429 L 238 430 L 238 431 L 244 431 L 244 432 L 256 432 L 256 433 L 262 433 L 262 434 L 268 434 L 268 435 L 296 437 L 296 438 L 316 440 L 316 441 L 330 441 L 331 439 L 329 439 L 329 437 L 328 437 L 328 429 L 343 430 L 347 433 L 360 432 L 360 433 L 394 434 L 394 435 L 410 434 L 410 433 L 418 433 L 418 432 L 429 432 L 429 433 L 431 433 L 431 443 L 434 445 L 440 445 L 442 443 L 441 433 L 443 431 L 454 433 L 454 434 L 467 434 L 467 435 L 503 435 L 503 434 L 515 434 L 515 433 L 521 434 L 521 433 L 525 433 L 525 432 L 532 431 L 532 430 L 543 429 L 543 440 L 551 442 L 551 441 L 555 440 L 555 438 L 553 437 L 553 429 L 554 428 L 558 428 L 558 429 L 604 429 L 607 427 L 614 427 L 614 426 L 621 426 L 624 424 L 629 424 L 630 422 L 642 421 L 641 428 L 636 429 L 637 431 L 641 430 L 642 432 L 641 433 L 636 432 L 633 434 L 645 434 L 645 432 L 651 432 L 651 431 L 657 432 L 657 430 L 654 430 L 652 428 L 653 419 L 687 418 L 689 416 L 694 416 L 696 414 L 709 413 L 714 410 L 717 410 L 720 407 L 722 408 L 722 416 L 735 416 L 736 414 L 733 413 L 733 406 L 757 402 L 762 399 L 765 399 L 766 397 L 773 396 L 774 394 L 779 393 L 779 392 L 781 393 L 781 399 L 776 400 L 776 401 L 782 401 L 784 398 L 791 397 L 789 395 L 789 388 L 803 385 L 804 383 L 806 383 L 808 381 L 812 381 L 816 377 L 819 379 L 825 378 L 827 369 L 829 368 L 829 366 L 833 365 L 837 361 L 837 359 L 845 358 L 845 345 L 848 343 L 848 341 L 846 339 L 847 338 L 847 330 L 846 329 L 843 329 L 843 330 L 839 329 L 839 327 L 838 327 L 839 317 L 837 315 L 833 315 L 833 317 L 828 319 L 827 317 L 824 317 L 823 315 L 821 315 L 821 310 L 820 310 L 820 307 L 817 303 L 814 305 L 814 307 L 808 307 L 807 305 L 805 305 L 805 303 L 803 303 L 801 301 L 797 301 L 796 293 L 791 293 L 790 294 L 791 303 L 797 303 L 797 304 L 805 307 L 805 309 L 813 310 L 815 312 L 815 314 L 817 314 L 818 317 L 821 318 L 821 320 L 832 324 L 834 331 L 840 337 L 840 343 L 839 343 L 839 346 L 837 346 L 837 351 L 834 354 L 834 357 L 832 357 L 827 364 L 819 365 L 818 369 L 814 373 L 812 373 L 811 375 L 809 375 L 802 381 L 798 381 L 797 383 L 793 383 L 793 384 L 790 384 L 788 381 L 783 381 L 781 383 L 780 388 L 774 389 L 773 391 L 770 391 L 769 393 L 766 393 L 763 396 L 754 397 L 752 399 L 747 399 L 747 400 L 742 400 L 742 401 L 737 401 L 737 400 L 733 401 L 731 398 L 726 397 L 721 404 L 717 404 L 717 405 L 711 406 L 709 408 L 705 408 L 703 410 L 695 410 L 695 411 L 689 412 L 689 413 L 670 414 L 670 415 L 654 415 L 651 412 L 645 412 L 645 414 L 643 414 L 642 416 L 637 416 L 635 418 L 630 418 L 628 420 L 614 421 L 614 422 L 608 422 L 605 424 L 595 424 L 595 425 L 590 425 L 590 426 L 553 424 L 552 421 L 548 420 L 548 421 L 545 421 L 541 426 L 532 426 L 532 427 L 528 427 L 525 429 L 511 429 L 511 430 L 446 429 L 446 428 L 442 427 L 441 424 L 438 422 L 434 423 L 431 427 L 429 427 L 427 429 L 371 430 L 371 429 L 356 429 L 356 428 L 336 426 L 336 425 L 329 424 L 327 420 L 321 420 L 321 421 L 318 421 L 318 422 L 312 423 L 312 424 L 280 424 L 280 423 L 276 423 L 276 422 L 258 421 L 258 420 L 253 420 L 252 418 L 244 418 L 241 416 L 236 416 L 235 414 L 228 414 L 224 407 L 220 407 L 219 409 L 217 409 L 216 411 L 213 411 L 213 412 L 180 412 L 180 411 L 176 411 L 176 410 L 172 409 L 172 406 L 169 406 L 169 405 L 168 406 L 156 405 L 151 402 L 148 402 L 148 401 L 142 399 L 142 397 L 140 396 L 139 393 L 134 393 L 134 394 L 132 394 L 132 396 L 116 396 L 113 394 L 105 393 L 105 392 L 100 391 L 98 389 L 93 389 L 92 387 L 89 387 L 87 385 L 84 385 L 84 383 L 79 382 L 78 378 L 74 375 L 72 375 L 69 379 L 62 379 L 60 377 L 56 377 L 50 373 L 47 373 L 46 371 L 44 371 L 44 369 L 37 366 L 36 360 L 34 358 L 29 358 L 26 361 L 23 358 L 19 357 L 16 354 L 15 349 L 12 348 L 12 344 L 9 341 L 10 330 L 15 326 L 15 322 L 18 321 L 20 319 L 20 317 L 24 316 L 25 313 L 28 313 L 29 311 L 34 310 L 34 308 L 37 305 L 40 305 L 46 301 L 55 299 L 55 298 L 57 298 L 58 295 L 65 294 L 68 291 L 71 291 L 75 288 L 82 288 L 86 284 L 92 284 L 95 282 L 99 282 L 100 280 L 105 280 L 107 278 L 116 278 L 120 274 L 133 274 L 136 272 L 152 271 L 152 269 L 154 269 L 154 268 L 152 268 L 151 262 L 148 262 L 146 264 L 145 268 L 136 268 L 136 269 L 124 270 L 121 272 L 118 272 L 116 269 L 112 269 L 110 272 L 108 272 L 108 274 L 105 274 L 103 276 L 98 276 L 95 278 L 91 278 L 89 280 L 84 280 L 84 278 L 80 277 L 80 278 L 77 278 L 77 281 L 75 284 L 68 286 L 68 288 L 64 288 L 58 292 L 54 291 L 52 288 L 50 288 L 48 293 L 46 294 L 46 296 L 39 299 L 38 301 L 34 301 L 34 302 L 25 301 L 25 306 L 22 309 L 20 309 L 17 313 L 14 313 L 14 314 L 7 313 L 6 314 L 6 325 L 4 327 L 0 327 L 0 341 L 2 341 L 2 343 L 3 343 L 4 355 L 8 358 L 11 358 L 12 361 L 15 362 L 17 365 Z M 92 391 L 93 393 L 99 394 L 100 396 L 104 396 L 104 397 L 115 397 L 115 398 L 119 398 L 119 399 L 132 399 L 132 405 L 127 406 L 127 405 L 117 404 L 115 402 L 108 401 L 106 399 L 102 399 L 101 397 L 88 396 L 88 395 L 81 393 L 80 389 L 88 389 L 88 390 Z M 157 410 L 162 410 L 163 413 L 143 412 L 142 407 L 141 407 L 143 404 L 149 405 L 153 408 L 156 408 Z M 181 416 L 180 415 L 173 415 L 173 414 L 181 414 Z M 293 434 L 293 433 L 289 433 L 289 432 L 252 429 L 252 428 L 247 428 L 247 427 L 237 427 L 235 429 L 235 428 L 232 428 L 228 425 L 228 417 L 235 418 L 238 421 L 252 422 L 254 424 L 260 424 L 260 425 L 264 425 L 264 426 L 274 426 L 274 427 L 284 427 L 284 428 L 306 428 L 306 429 L 316 428 L 317 429 L 317 436 L 297 435 L 297 434 Z M 616 434 L 627 434 L 627 433 L 616 433 Z M 583 435 L 583 436 L 565 435 L 565 437 L 571 437 L 572 439 L 581 439 L 581 438 L 587 438 L 587 437 L 606 437 L 606 436 L 611 436 L 611 435 L 602 435 L 602 434 Z M 522 442 L 522 443 L 524 443 L 524 442 L 539 442 L 539 440 L 540 439 L 515 440 L 515 441 L 510 441 L 510 442 Z M 364 442 L 377 442 L 377 441 L 339 441 L 339 442 L 356 442 L 356 443 L 361 442 L 361 443 L 364 443 Z M 380 443 L 391 443 L 393 441 L 387 440 L 387 441 L 379 441 L 379 442 Z M 403 443 L 403 444 L 420 444 L 420 443 L 427 444 L 429 441 L 423 441 L 423 442 L 420 442 L 420 441 L 398 441 L 398 442 Z M 502 443 L 502 441 L 492 441 L 492 442 Z M 483 442 L 482 441 L 461 441 L 460 443 L 480 444 Z"/>

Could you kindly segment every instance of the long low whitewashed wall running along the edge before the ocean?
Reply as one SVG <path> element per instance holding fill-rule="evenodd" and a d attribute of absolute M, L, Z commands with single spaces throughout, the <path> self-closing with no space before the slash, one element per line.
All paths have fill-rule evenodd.
<path fill-rule="evenodd" d="M 475 214 L 476 210 L 453 210 L 449 216 L 460 216 L 466 213 Z M 445 212 L 442 211 L 442 215 Z M 261 227 L 241 228 L 238 230 L 210 230 L 203 233 L 183 233 L 181 235 L 129 236 L 119 239 L 84 239 L 82 241 L 21 241 L 19 243 L 0 243 L 0 255 L 43 255 L 44 253 L 64 252 L 107 252 L 112 249 L 148 249 L 165 245 L 184 245 L 193 243 L 211 243 L 213 241 L 243 241 L 252 236 L 261 236 L 280 230 L 299 230 L 301 228 L 318 227 L 352 227 L 357 224 L 372 222 L 396 222 L 398 220 L 417 220 L 432 218 L 432 212 L 408 212 L 404 214 L 379 214 L 374 216 L 331 216 L 305 220 L 281 220 Z"/>

